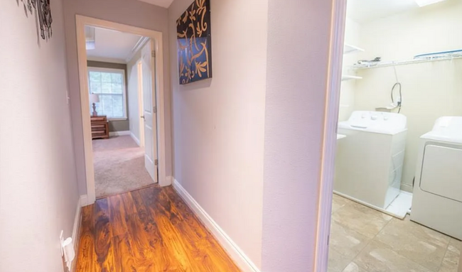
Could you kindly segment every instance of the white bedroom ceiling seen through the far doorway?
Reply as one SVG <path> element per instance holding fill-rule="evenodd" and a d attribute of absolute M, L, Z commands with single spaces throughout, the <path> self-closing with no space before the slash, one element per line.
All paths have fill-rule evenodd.
<path fill-rule="evenodd" d="M 96 28 L 95 49 L 87 50 L 87 59 L 125 63 L 140 38 L 139 35 Z"/>

